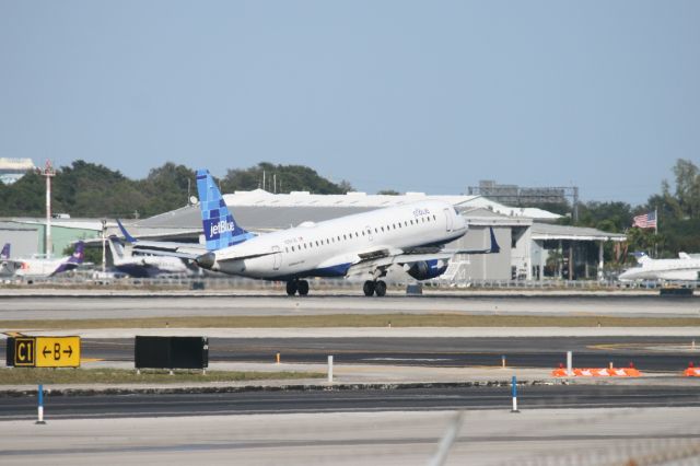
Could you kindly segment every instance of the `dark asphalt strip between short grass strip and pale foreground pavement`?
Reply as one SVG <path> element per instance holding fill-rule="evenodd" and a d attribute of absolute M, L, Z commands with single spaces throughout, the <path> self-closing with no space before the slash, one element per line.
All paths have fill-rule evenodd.
<path fill-rule="evenodd" d="M 240 393 L 75 395 L 45 397 L 51 419 L 155 416 L 506 409 L 508 386 L 401 389 L 255 391 Z M 521 409 L 700 407 L 697 387 L 530 385 L 520 387 Z M 0 397 L 0 420 L 33 419 L 35 397 Z"/>

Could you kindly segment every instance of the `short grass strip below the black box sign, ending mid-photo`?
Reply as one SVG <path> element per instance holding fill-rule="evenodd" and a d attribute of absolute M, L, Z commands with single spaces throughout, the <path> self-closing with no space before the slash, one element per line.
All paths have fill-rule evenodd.
<path fill-rule="evenodd" d="M 185 371 L 176 370 L 173 375 L 166 370 L 126 369 L 46 369 L 5 368 L 0 369 L 0 385 L 32 384 L 175 384 L 206 382 L 287 381 L 300 378 L 322 378 L 320 372 L 240 372 L 240 371 Z"/>

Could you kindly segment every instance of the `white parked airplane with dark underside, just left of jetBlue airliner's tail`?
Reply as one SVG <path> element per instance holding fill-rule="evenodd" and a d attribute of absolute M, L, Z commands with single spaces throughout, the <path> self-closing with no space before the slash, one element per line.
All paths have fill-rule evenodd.
<path fill-rule="evenodd" d="M 119 223 L 121 226 L 121 224 Z M 191 273 L 183 259 L 177 257 L 163 256 L 135 256 L 127 251 L 117 236 L 109 236 L 109 251 L 114 268 L 131 277 L 155 277 L 159 275 L 183 275 Z"/>

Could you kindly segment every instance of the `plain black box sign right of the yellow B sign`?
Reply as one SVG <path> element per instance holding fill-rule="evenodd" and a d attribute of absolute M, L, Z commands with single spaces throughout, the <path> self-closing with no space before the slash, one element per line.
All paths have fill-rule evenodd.
<path fill-rule="evenodd" d="M 205 369 L 209 365 L 207 337 L 136 337 L 137 369 Z"/>

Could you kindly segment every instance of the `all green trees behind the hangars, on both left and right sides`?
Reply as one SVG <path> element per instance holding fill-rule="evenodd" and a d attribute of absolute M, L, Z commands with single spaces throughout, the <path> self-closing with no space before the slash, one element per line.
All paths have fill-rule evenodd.
<path fill-rule="evenodd" d="M 652 195 L 643 205 L 580 202 L 578 221 L 568 215 L 561 223 L 625 233 L 630 252 L 645 251 L 658 257 L 675 257 L 681 251 L 700 253 L 700 170 L 692 161 L 680 159 L 672 171 L 673 180 L 662 180 L 661 193 Z M 217 183 L 223 193 L 257 188 L 314 194 L 352 190 L 348 182 L 334 183 L 307 166 L 267 162 L 229 170 L 222 178 L 217 178 Z M 27 173 L 12 185 L 0 183 L 0 217 L 43 217 L 45 189 L 45 178 L 37 173 Z M 57 170 L 52 178 L 52 210 L 72 217 L 150 217 L 186 206 L 188 196 L 196 196 L 196 193 L 195 172 L 185 165 L 168 162 L 151 170 L 143 179 L 130 179 L 104 165 L 79 160 Z M 390 189 L 383 193 L 398 194 Z M 532 207 L 558 213 L 572 210 L 570 205 Z M 634 215 L 654 210 L 658 212 L 657 234 L 653 229 L 631 226 Z M 612 245 L 608 245 L 606 260 L 620 260 L 616 255 L 619 256 L 619 251 L 614 252 Z"/>

